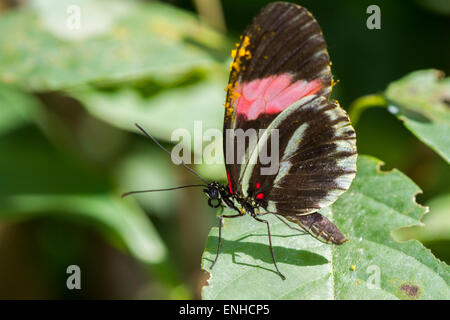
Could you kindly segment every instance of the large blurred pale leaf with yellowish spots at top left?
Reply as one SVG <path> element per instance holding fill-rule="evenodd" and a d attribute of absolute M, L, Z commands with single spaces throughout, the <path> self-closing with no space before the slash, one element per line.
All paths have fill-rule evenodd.
<path fill-rule="evenodd" d="M 80 9 L 80 28 L 69 28 Z M 0 18 L 0 82 L 37 91 L 89 82 L 173 82 L 216 65 L 224 38 L 174 7 L 137 1 L 34 1 Z"/>

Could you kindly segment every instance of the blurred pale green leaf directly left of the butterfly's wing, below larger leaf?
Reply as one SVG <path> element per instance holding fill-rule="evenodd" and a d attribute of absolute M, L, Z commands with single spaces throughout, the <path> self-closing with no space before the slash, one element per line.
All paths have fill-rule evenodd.
<path fill-rule="evenodd" d="M 143 97 L 129 88 L 116 92 L 72 90 L 70 94 L 103 121 L 133 132 L 137 131 L 134 123 L 138 122 L 155 137 L 170 141 L 177 129 L 186 129 L 194 139 L 194 121 L 201 121 L 203 132 L 222 128 L 224 83 L 219 79 L 201 81 L 152 97 Z M 188 142 L 190 147 L 191 139 Z"/>

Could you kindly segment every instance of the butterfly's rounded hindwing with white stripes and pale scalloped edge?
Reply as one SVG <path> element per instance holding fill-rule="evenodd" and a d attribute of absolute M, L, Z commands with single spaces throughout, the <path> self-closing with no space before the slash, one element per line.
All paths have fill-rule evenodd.
<path fill-rule="evenodd" d="M 259 194 L 268 212 L 304 215 L 330 205 L 350 187 L 356 173 L 355 131 L 336 101 L 303 98 L 271 126 L 279 132 L 278 172 L 262 175 L 261 163 L 247 164 L 244 195 Z"/>

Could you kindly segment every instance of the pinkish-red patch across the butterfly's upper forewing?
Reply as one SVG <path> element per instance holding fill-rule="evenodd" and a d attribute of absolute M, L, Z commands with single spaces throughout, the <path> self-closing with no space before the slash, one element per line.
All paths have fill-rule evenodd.
<path fill-rule="evenodd" d="M 255 120 L 261 113 L 277 114 L 303 97 L 323 88 L 320 79 L 292 82 L 292 75 L 283 73 L 264 79 L 237 84 L 234 101 L 236 112 L 248 120 Z"/>

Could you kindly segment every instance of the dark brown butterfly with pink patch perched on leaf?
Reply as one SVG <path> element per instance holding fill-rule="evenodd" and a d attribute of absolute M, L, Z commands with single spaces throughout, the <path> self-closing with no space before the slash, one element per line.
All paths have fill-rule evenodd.
<path fill-rule="evenodd" d="M 326 243 L 347 241 L 317 211 L 350 187 L 356 174 L 356 134 L 346 112 L 329 99 L 334 81 L 327 46 L 318 22 L 305 8 L 287 2 L 266 5 L 245 29 L 232 56 L 223 126 L 225 157 L 233 154 L 225 163 L 228 184 L 207 182 L 183 164 L 205 183 L 183 187 L 204 186 L 211 207 L 235 211 L 219 216 L 211 268 L 220 254 L 223 219 L 249 214 L 266 224 L 273 264 L 284 280 L 264 215 L 273 214 L 288 226 L 287 221 L 294 223 Z M 230 132 L 252 129 L 263 130 L 256 143 L 251 139 L 241 140 L 240 146 L 231 143 L 236 137 Z M 267 164 L 257 155 L 261 150 L 275 151 L 269 144 L 275 136 L 277 170 L 264 174 Z M 237 152 L 239 147 L 243 152 Z M 181 187 L 160 190 L 177 188 Z"/>

